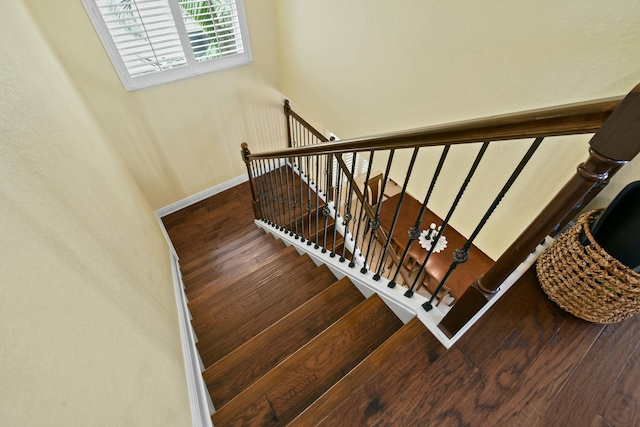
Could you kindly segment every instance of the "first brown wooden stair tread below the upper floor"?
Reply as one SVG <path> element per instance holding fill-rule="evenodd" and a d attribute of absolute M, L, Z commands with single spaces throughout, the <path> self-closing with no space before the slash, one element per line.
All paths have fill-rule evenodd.
<path fill-rule="evenodd" d="M 285 425 L 401 326 L 380 297 L 369 297 L 219 408 L 214 424 Z"/>

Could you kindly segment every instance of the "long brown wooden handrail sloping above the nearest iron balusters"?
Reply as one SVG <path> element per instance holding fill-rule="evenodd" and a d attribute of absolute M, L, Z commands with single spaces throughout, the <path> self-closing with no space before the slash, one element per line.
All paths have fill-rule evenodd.
<path fill-rule="evenodd" d="M 250 154 L 249 160 L 594 133 L 624 97 Z M 295 114 L 290 111 L 291 115 Z M 301 119 L 297 114 L 296 119 Z M 305 122 L 306 123 L 306 122 Z M 309 127 L 313 129 L 313 127 Z M 317 132 L 317 131 L 316 131 Z M 326 140 L 319 132 L 314 133 Z"/>

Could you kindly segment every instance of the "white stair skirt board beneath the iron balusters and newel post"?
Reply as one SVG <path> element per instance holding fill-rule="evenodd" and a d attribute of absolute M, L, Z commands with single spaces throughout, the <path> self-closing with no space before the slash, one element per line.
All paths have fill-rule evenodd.
<path fill-rule="evenodd" d="M 500 286 L 497 294 L 478 312 L 472 319 L 452 338 L 447 337 L 439 328 L 438 324 L 445 316 L 445 311 L 440 307 L 434 307 L 430 311 L 425 311 L 422 308 L 422 304 L 427 301 L 425 297 L 418 293 L 414 293 L 411 298 L 404 296 L 406 288 L 402 286 L 395 286 L 389 288 L 387 284 L 389 279 L 381 277 L 380 280 L 373 280 L 374 273 L 367 271 L 367 273 L 360 272 L 360 266 L 349 267 L 349 260 L 340 262 L 338 257 L 330 257 L 329 251 L 322 253 L 322 248 L 314 249 L 313 246 L 308 246 L 306 243 L 301 243 L 300 240 L 296 240 L 294 236 L 290 236 L 288 233 L 278 230 L 276 227 L 267 224 L 264 221 L 256 220 L 256 225 L 265 231 L 271 233 L 277 239 L 282 240 L 287 246 L 293 245 L 298 253 L 307 254 L 317 264 L 325 264 L 338 279 L 345 276 L 349 277 L 354 285 L 362 292 L 365 297 L 369 297 L 373 293 L 377 293 L 380 298 L 389 306 L 391 310 L 398 316 L 398 318 L 407 323 L 414 317 L 418 319 L 431 331 L 431 333 L 445 346 L 447 349 L 460 339 L 462 335 L 484 314 L 486 311 L 498 301 L 498 299 L 504 295 L 504 293 L 511 288 L 511 286 L 533 265 L 538 258 L 542 250 L 551 243 L 552 239 L 548 237 L 543 245 L 539 245 L 536 250 L 527 257 L 527 259 L 511 273 L 511 275 Z M 447 310 L 448 311 L 448 310 Z"/>

